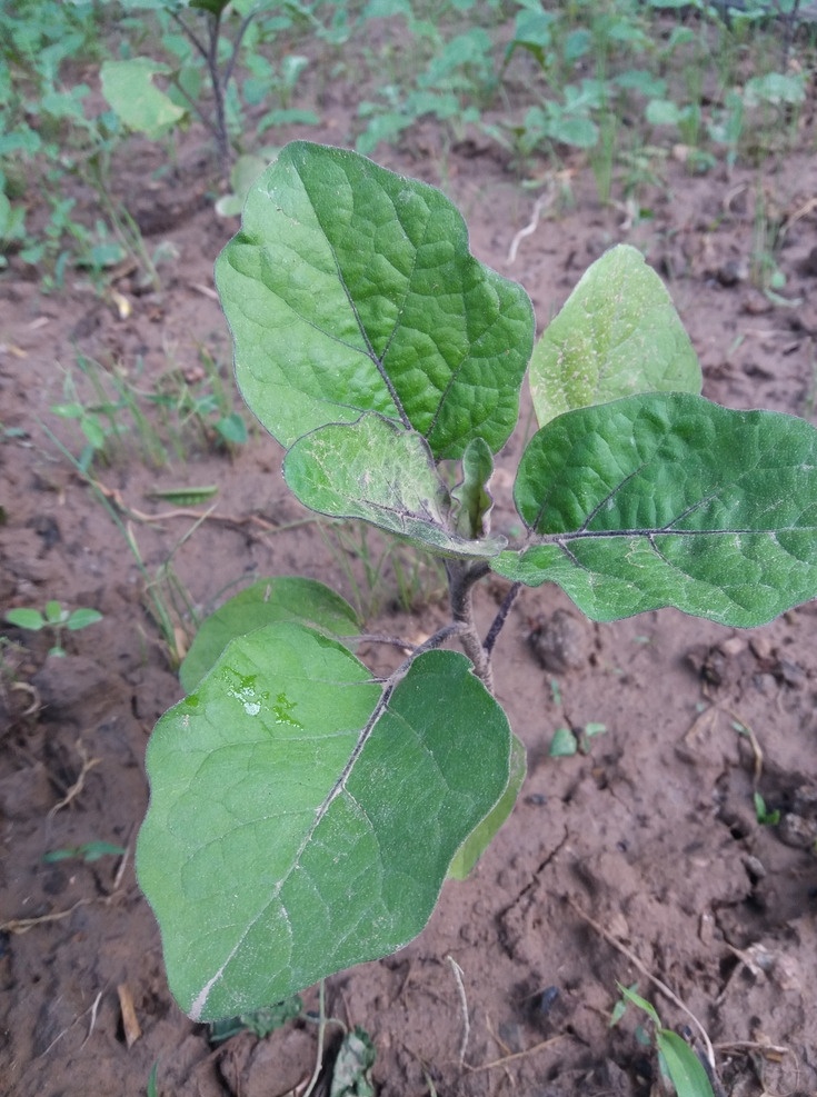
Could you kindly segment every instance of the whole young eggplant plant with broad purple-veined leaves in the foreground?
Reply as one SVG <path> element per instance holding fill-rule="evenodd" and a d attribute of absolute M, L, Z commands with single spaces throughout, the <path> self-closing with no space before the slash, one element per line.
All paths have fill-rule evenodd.
<path fill-rule="evenodd" d="M 676 606 L 730 626 L 817 594 L 817 431 L 703 399 L 635 249 L 594 263 L 532 349 L 527 295 L 469 253 L 441 193 L 295 142 L 217 281 L 289 488 L 442 558 L 451 619 L 386 680 L 353 654 L 351 608 L 311 580 L 262 580 L 202 626 L 188 696 L 149 746 L 138 844 L 170 987 L 197 1020 L 395 951 L 468 874 L 525 774 L 491 691 L 521 585 L 556 582 L 597 621 Z M 511 546 L 488 485 L 529 359 L 540 429 Z M 471 600 L 490 572 L 511 582 L 481 636 Z"/>

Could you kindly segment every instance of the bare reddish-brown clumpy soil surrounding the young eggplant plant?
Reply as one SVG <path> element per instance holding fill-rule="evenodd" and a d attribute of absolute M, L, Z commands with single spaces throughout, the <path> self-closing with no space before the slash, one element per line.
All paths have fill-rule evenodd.
<path fill-rule="evenodd" d="M 307 136 L 331 141 L 332 130 Z M 440 182 L 435 149 L 434 133 L 419 131 L 382 159 Z M 179 163 L 181 172 L 183 156 Z M 76 425 L 49 410 L 78 353 L 145 391 L 171 368 L 199 376 L 202 347 L 227 363 L 211 267 L 236 223 L 188 186 L 200 178 L 196 157 L 188 168 L 187 179 L 166 177 L 151 191 L 147 242 L 170 241 L 178 259 L 162 268 L 160 292 L 129 275 L 114 283 L 129 316 L 110 292 L 79 282 L 42 296 L 13 261 L 0 281 L 0 608 L 57 598 L 104 615 L 67 636 L 63 659 L 47 656 L 42 635 L 4 630 L 0 1089 L 14 1097 L 143 1094 L 156 1064 L 163 1097 L 282 1097 L 302 1093 L 315 1065 L 309 1019 L 215 1046 L 169 996 L 133 842 L 148 797 L 146 742 L 180 688 L 146 604 L 168 561 L 200 612 L 269 574 L 311 576 L 353 597 L 350 542 L 301 521 L 280 453 L 259 431 L 231 453 L 188 437 L 182 458 L 155 468 L 130 430 L 109 465 L 93 466 L 106 507 L 58 446 L 79 451 Z M 640 218 L 600 207 L 577 171 L 572 205 L 546 205 L 508 263 L 535 196 L 479 141 L 445 158 L 476 255 L 525 285 L 540 325 L 605 248 L 634 242 L 670 285 L 705 395 L 813 417 L 817 166 L 797 156 L 729 176 L 667 171 L 666 188 L 641 197 L 651 216 Z M 129 193 L 132 178 L 123 174 L 122 198 L 145 205 Z M 787 279 L 777 297 L 749 277 L 760 190 Z M 495 528 L 518 526 L 510 487 L 522 442 L 515 437 L 500 460 Z M 150 497 L 203 485 L 219 488 L 211 503 Z M 505 589 L 494 580 L 481 595 L 486 625 Z M 385 580 L 373 628 L 416 637 L 441 620 L 434 600 L 408 612 L 395 602 Z M 671 610 L 597 626 L 556 589 L 526 591 L 495 676 L 528 750 L 512 817 L 472 877 L 445 887 L 417 940 L 327 981 L 329 1013 L 373 1039 L 378 1093 L 658 1093 L 634 1009 L 610 1026 L 617 985 L 637 984 L 666 1025 L 701 1047 L 697 1018 L 725 1093 L 816 1094 L 815 606 L 744 632 Z M 558 728 L 575 730 L 582 750 L 551 757 Z M 91 841 L 127 852 L 43 860 Z M 316 1004 L 312 988 L 305 1006 Z M 336 1034 L 330 1026 L 330 1056 Z"/>

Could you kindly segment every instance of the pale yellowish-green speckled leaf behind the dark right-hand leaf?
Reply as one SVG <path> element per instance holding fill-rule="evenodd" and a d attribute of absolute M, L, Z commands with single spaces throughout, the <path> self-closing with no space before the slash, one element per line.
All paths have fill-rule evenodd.
<path fill-rule="evenodd" d="M 587 269 L 530 360 L 540 426 L 638 392 L 700 392 L 700 366 L 658 275 L 629 245 Z"/>

